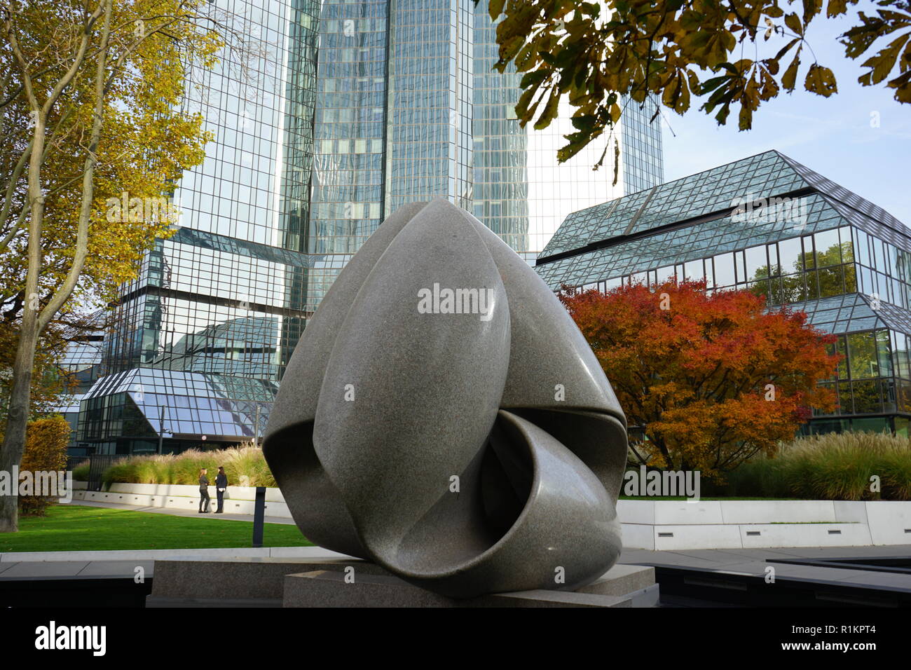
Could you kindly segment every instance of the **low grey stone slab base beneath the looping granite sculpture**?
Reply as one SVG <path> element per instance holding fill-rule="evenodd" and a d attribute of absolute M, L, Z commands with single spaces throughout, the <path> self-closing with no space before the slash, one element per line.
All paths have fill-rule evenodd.
<path fill-rule="evenodd" d="M 653 568 L 615 565 L 578 591 L 457 600 L 353 558 L 156 561 L 147 607 L 654 607 Z"/>

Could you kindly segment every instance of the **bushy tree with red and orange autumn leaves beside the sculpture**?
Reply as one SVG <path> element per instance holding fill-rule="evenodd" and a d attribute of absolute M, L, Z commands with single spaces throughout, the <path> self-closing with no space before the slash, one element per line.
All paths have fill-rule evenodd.
<path fill-rule="evenodd" d="M 561 302 L 598 356 L 630 427 L 646 439 L 632 455 L 663 469 L 723 473 L 791 439 L 812 413 L 834 408 L 817 383 L 839 356 L 806 314 L 766 312 L 749 291 L 706 294 L 704 282 L 642 284 Z"/>

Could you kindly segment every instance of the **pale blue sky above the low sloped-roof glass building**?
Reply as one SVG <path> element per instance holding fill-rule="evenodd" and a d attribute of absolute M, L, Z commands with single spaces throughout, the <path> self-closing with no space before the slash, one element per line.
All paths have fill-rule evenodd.
<path fill-rule="evenodd" d="M 852 61 L 837 42 L 837 36 L 855 20 L 852 15 L 838 20 L 820 15 L 807 33 L 819 63 L 831 67 L 838 81 L 838 93 L 831 98 L 804 90 L 802 77 L 812 62 L 804 47 L 798 88 L 763 103 L 753 115 L 751 130 L 737 129 L 739 108 L 732 108 L 728 125 L 722 127 L 699 111 L 701 102 L 682 117 L 665 108 L 664 118 L 670 122 L 670 128 L 665 123 L 662 130 L 665 180 L 778 149 L 911 227 L 911 105 L 896 102 L 893 90 L 883 84 L 862 87 L 857 83 L 864 72 L 860 64 L 871 52 Z M 761 57 L 773 55 L 777 48 L 772 46 L 774 40 L 760 44 L 764 46 Z M 790 62 L 785 57 L 783 67 Z M 879 113 L 878 128 L 871 127 L 872 112 Z"/>

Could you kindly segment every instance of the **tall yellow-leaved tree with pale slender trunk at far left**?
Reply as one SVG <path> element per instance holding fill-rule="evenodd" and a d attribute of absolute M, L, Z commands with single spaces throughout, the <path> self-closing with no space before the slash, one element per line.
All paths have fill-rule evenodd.
<path fill-rule="evenodd" d="M 223 45 L 213 11 L 206 0 L 0 4 L 0 306 L 16 327 L 0 469 L 22 458 L 48 327 L 77 298 L 107 302 L 169 234 L 167 197 L 208 139 L 180 103 L 188 72 Z M 0 497 L 0 531 L 16 528 L 15 498 Z"/>

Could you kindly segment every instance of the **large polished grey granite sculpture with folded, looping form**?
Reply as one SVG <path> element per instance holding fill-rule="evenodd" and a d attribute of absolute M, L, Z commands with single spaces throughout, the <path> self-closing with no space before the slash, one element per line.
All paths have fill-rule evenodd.
<path fill-rule="evenodd" d="M 619 556 L 617 397 L 534 270 L 443 199 L 339 274 L 263 452 L 307 538 L 436 593 L 572 590 Z"/>

